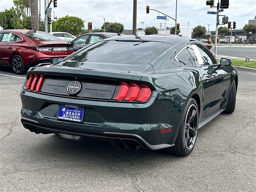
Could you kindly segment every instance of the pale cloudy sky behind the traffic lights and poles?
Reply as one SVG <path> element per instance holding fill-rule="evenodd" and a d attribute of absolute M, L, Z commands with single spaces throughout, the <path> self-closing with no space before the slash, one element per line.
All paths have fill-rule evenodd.
<path fill-rule="evenodd" d="M 41 1 L 41 18 L 44 18 L 44 0 L 38 1 Z M 217 2 L 218 0 L 215 0 L 214 6 Z M 206 6 L 206 0 L 178 0 L 177 4 L 177 22 L 180 23 L 180 28 L 202 25 L 207 31 L 208 28 L 215 30 L 216 15 L 207 14 L 207 11 L 216 11 L 216 8 Z M 150 10 L 150 13 L 146 14 L 147 5 L 151 9 L 175 18 L 176 0 L 137 0 L 137 28 L 142 27 L 140 22 L 144 22 L 143 28 L 146 26 L 160 28 L 160 23 L 164 28 L 165 21 L 156 19 L 158 12 Z M 10 9 L 12 6 L 14 6 L 12 0 L 0 0 L 0 11 Z M 120 22 L 124 25 L 124 29 L 132 29 L 133 0 L 57 0 L 57 8 L 53 8 L 53 3 L 51 7 L 57 18 L 66 15 L 80 17 L 85 22 L 85 28 L 87 22 L 92 22 L 93 28 L 100 28 L 104 23 L 103 18 L 98 17 L 100 15 L 105 18 L 105 22 Z M 224 9 L 221 15 L 228 16 L 229 21 L 236 22 L 237 29 L 242 29 L 248 24 L 248 20 L 256 16 L 256 0 L 229 0 L 229 8 Z M 166 20 L 166 26 L 174 25 L 174 20 Z"/>

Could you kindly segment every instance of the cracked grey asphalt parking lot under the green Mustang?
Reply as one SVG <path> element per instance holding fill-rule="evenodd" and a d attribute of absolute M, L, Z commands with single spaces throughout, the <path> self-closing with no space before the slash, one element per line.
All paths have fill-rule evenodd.
<path fill-rule="evenodd" d="M 238 72 L 236 110 L 201 128 L 184 158 L 34 134 L 20 122 L 24 78 L 0 75 L 0 191 L 255 191 L 256 74 Z"/>

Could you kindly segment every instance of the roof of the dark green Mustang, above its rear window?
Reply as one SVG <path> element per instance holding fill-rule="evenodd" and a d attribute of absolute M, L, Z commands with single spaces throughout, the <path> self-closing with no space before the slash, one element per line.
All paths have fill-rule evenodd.
<path fill-rule="evenodd" d="M 182 41 L 196 41 L 188 37 L 180 36 L 164 36 L 164 35 L 124 35 L 110 38 L 111 40 L 124 40 L 124 41 L 156 41 L 156 42 L 165 42 L 170 44 L 178 44 Z M 109 39 L 107 39 L 109 40 Z"/>

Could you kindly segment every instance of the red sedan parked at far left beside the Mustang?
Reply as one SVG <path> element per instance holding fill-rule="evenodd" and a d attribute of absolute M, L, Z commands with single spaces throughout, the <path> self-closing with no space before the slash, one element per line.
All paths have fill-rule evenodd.
<path fill-rule="evenodd" d="M 59 38 L 35 30 L 0 31 L 0 66 L 10 66 L 23 74 L 31 66 L 56 63 L 74 48 Z"/>

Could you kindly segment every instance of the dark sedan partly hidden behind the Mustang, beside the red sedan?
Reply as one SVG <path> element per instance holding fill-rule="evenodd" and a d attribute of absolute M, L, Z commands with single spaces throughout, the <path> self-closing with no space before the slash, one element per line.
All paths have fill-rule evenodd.
<path fill-rule="evenodd" d="M 86 34 L 82 34 L 79 37 L 75 38 L 71 42 L 71 44 L 74 46 L 74 51 L 77 51 L 81 48 L 84 48 L 85 46 L 87 46 L 89 44 L 95 43 L 102 39 L 116 37 L 116 36 L 122 36 L 122 35 L 124 35 L 124 34 L 107 33 L 107 32 L 86 33 Z"/>

